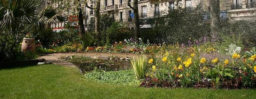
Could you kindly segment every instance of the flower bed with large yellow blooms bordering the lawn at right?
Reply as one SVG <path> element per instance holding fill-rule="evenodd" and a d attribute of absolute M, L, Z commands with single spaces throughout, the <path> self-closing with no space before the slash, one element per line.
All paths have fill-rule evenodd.
<path fill-rule="evenodd" d="M 191 50 L 193 49 L 193 50 Z M 205 58 L 198 46 L 150 55 L 144 87 L 255 88 L 256 55 L 235 52 L 229 58 Z"/>

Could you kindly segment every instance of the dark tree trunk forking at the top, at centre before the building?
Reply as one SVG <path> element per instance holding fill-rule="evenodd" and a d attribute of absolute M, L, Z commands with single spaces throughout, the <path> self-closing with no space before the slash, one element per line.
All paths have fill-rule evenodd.
<path fill-rule="evenodd" d="M 138 40 L 139 38 L 139 12 L 138 12 L 138 0 L 133 0 L 133 7 L 128 1 L 127 5 L 133 10 L 134 13 L 134 37 Z"/>

